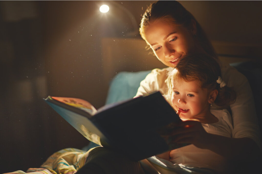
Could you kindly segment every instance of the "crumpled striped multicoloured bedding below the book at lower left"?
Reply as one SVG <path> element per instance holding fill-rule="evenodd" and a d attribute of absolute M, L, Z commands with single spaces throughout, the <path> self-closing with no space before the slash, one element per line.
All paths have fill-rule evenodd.
<path fill-rule="evenodd" d="M 85 164 L 89 151 L 76 148 L 62 149 L 48 157 L 40 168 L 29 168 L 26 172 L 18 170 L 6 174 L 73 174 Z"/>

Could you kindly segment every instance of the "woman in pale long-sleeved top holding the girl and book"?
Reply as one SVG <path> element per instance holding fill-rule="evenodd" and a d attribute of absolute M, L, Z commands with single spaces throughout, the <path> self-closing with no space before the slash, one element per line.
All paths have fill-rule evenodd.
<path fill-rule="evenodd" d="M 199 23 L 176 1 L 157 1 L 151 4 L 142 17 L 140 34 L 156 57 L 168 67 L 175 67 L 181 57 L 189 53 L 206 53 L 217 58 Z M 221 107 L 232 112 L 233 138 L 211 136 L 209 139 L 212 144 L 207 145 L 205 140 L 196 142 L 195 137 L 184 136 L 190 137 L 186 142 L 210 149 L 228 160 L 238 159 L 237 162 L 241 163 L 246 159 L 255 158 L 261 149 L 252 91 L 245 76 L 230 65 L 221 64 L 221 71 L 222 79 L 237 92 L 234 104 Z M 166 72 L 167 68 L 152 70 L 140 83 L 136 97 L 157 90 L 171 102 L 171 98 L 165 95 Z M 181 131 L 181 137 L 185 131 L 187 130 Z"/>

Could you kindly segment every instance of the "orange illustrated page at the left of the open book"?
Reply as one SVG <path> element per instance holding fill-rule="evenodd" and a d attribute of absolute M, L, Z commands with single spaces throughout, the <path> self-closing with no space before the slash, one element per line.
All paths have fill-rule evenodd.
<path fill-rule="evenodd" d="M 58 100 L 62 103 L 65 103 L 70 106 L 77 107 L 81 110 L 88 112 L 90 115 L 94 115 L 97 110 L 93 105 L 91 105 L 88 101 L 78 98 L 70 98 L 70 97 L 52 97 L 55 100 Z"/>

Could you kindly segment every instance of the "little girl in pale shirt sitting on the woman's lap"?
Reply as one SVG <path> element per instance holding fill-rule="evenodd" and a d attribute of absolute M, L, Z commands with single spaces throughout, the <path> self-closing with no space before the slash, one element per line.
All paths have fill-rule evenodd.
<path fill-rule="evenodd" d="M 206 131 L 204 134 L 195 131 L 188 132 L 186 135 L 174 138 L 173 141 L 187 142 L 191 134 L 199 134 L 204 137 L 208 134 L 232 137 L 231 115 L 228 110 L 221 110 L 217 107 L 234 103 L 236 93 L 221 79 L 220 66 L 214 58 L 204 54 L 184 56 L 176 68 L 168 73 L 168 79 L 168 95 L 172 96 L 172 106 L 178 111 L 179 117 L 184 121 L 198 120 Z M 216 109 L 210 110 L 212 105 L 216 106 Z M 190 126 L 186 125 L 185 128 Z M 178 134 L 179 129 L 174 129 L 172 136 Z M 174 171 L 181 170 L 182 165 L 190 170 L 197 169 L 199 172 L 203 168 L 205 169 L 202 172 L 208 169 L 220 173 L 227 171 L 227 161 L 223 156 L 208 149 L 198 148 L 197 144 L 174 149 L 170 153 L 157 156 L 162 158 L 159 160 L 163 163 L 169 163 L 163 160 L 166 159 L 173 164 L 178 164 L 170 165 Z M 148 160 L 151 162 L 152 158 Z M 160 173 L 165 173 L 165 170 L 165 168 L 158 169 Z"/>

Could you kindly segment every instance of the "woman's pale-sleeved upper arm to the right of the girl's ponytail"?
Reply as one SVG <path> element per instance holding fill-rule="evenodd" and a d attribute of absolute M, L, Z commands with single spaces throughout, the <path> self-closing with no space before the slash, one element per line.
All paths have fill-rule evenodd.
<path fill-rule="evenodd" d="M 257 121 L 253 93 L 247 78 L 229 64 L 222 64 L 222 78 L 237 92 L 230 105 L 233 120 L 233 138 L 249 138 L 261 149 L 260 129 Z"/>

